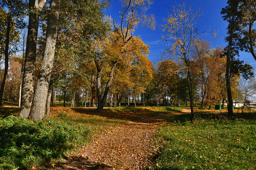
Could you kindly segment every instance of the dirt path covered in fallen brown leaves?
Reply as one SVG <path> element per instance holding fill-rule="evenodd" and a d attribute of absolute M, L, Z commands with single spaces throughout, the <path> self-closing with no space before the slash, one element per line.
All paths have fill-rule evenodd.
<path fill-rule="evenodd" d="M 125 121 L 108 128 L 101 134 L 95 134 L 93 140 L 77 155 L 67 156 L 49 169 L 146 169 L 154 155 L 156 130 L 171 115 L 165 113 L 154 119 L 148 117 L 143 121 Z M 148 150 L 153 153 L 148 153 Z"/>

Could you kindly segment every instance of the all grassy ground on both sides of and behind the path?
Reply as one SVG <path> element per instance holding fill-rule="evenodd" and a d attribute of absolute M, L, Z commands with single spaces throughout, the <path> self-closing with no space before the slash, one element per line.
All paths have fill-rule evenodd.
<path fill-rule="evenodd" d="M 33 122 L 18 118 L 19 108 L 10 103 L 0 112 L 0 169 L 54 162 L 77 152 L 93 134 L 127 121 L 161 123 L 150 169 L 255 169 L 256 113 L 237 111 L 229 120 L 226 110 L 196 108 L 191 123 L 182 107 L 112 107 L 103 113 L 51 107 L 50 117 Z"/>

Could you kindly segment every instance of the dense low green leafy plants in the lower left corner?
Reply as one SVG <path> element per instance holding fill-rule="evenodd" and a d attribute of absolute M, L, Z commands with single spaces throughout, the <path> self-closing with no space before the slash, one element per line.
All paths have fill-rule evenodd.
<path fill-rule="evenodd" d="M 68 150 L 85 144 L 89 134 L 82 123 L 0 118 L 0 169 L 30 169 L 64 156 Z"/>

